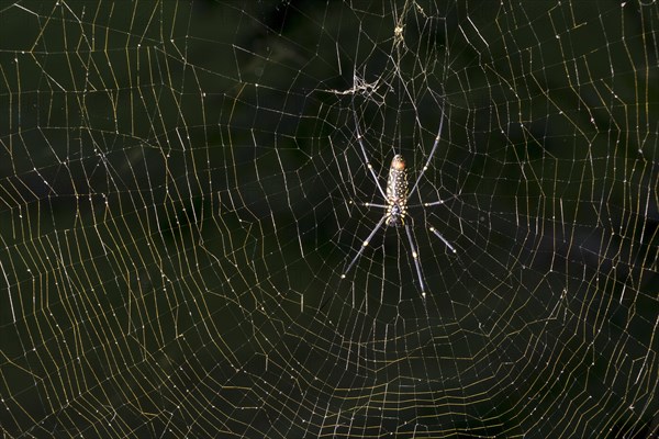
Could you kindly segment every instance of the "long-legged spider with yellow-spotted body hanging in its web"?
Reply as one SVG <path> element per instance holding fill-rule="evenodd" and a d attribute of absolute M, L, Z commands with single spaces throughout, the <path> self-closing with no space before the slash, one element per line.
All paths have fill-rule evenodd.
<path fill-rule="evenodd" d="M 355 255 L 355 257 L 353 258 L 350 263 L 348 263 L 347 268 L 345 269 L 345 271 L 343 272 L 340 278 L 342 279 L 346 278 L 346 274 L 348 273 L 348 271 L 350 271 L 353 266 L 357 262 L 357 260 L 364 252 L 364 249 L 369 245 L 373 235 L 376 234 L 376 232 L 378 232 L 380 229 L 382 224 L 386 224 L 387 227 L 389 227 L 389 226 L 401 227 L 402 226 L 402 227 L 405 227 L 405 234 L 407 235 L 407 241 L 410 243 L 410 248 L 412 249 L 412 259 L 414 260 L 414 267 L 416 269 L 416 275 L 418 278 L 421 295 L 423 297 L 425 297 L 426 291 L 425 291 L 425 283 L 423 281 L 423 275 L 422 275 L 422 271 L 421 271 L 421 262 L 420 262 L 420 258 L 418 258 L 418 251 L 416 250 L 416 246 L 414 245 L 414 239 L 412 238 L 412 230 L 410 229 L 410 224 L 406 222 L 406 217 L 409 216 L 407 207 L 418 207 L 418 206 L 428 207 L 428 206 L 433 206 L 433 205 L 443 204 L 445 202 L 445 200 L 438 200 L 438 201 L 434 201 L 432 203 L 421 203 L 421 204 L 413 204 L 413 205 L 407 205 L 407 200 L 414 194 L 414 192 L 418 188 L 418 182 L 421 181 L 421 178 L 423 177 L 424 172 L 428 169 L 428 165 L 429 165 L 431 160 L 433 159 L 433 156 L 435 155 L 437 145 L 439 144 L 439 138 L 442 137 L 442 127 L 444 125 L 444 109 L 442 109 L 442 115 L 439 119 L 439 128 L 437 130 L 437 135 L 435 136 L 435 143 L 433 144 L 431 154 L 429 154 L 424 167 L 421 169 L 421 172 L 416 177 L 416 181 L 414 182 L 414 185 L 412 187 L 411 191 L 407 191 L 407 168 L 406 168 L 405 159 L 403 158 L 403 156 L 401 154 L 396 154 L 393 156 L 393 159 L 391 160 L 391 166 L 389 167 L 389 178 L 387 179 L 387 190 L 384 191 L 382 189 L 382 187 L 380 185 L 380 181 L 378 180 L 378 176 L 376 175 L 376 171 L 373 170 L 373 167 L 368 159 L 368 155 L 366 154 L 366 148 L 364 147 L 364 143 L 361 142 L 362 136 L 361 136 L 361 132 L 359 131 L 359 122 L 357 121 L 357 114 L 356 114 L 354 106 L 353 106 L 353 115 L 355 116 L 357 142 L 359 143 L 359 147 L 361 148 L 364 161 L 366 162 L 366 167 L 370 171 L 370 175 L 372 176 L 372 178 L 378 187 L 378 190 L 380 191 L 380 194 L 382 195 L 382 198 L 384 200 L 384 204 L 362 203 L 362 205 L 365 205 L 367 207 L 384 209 L 386 211 L 384 211 L 384 214 L 382 215 L 382 217 L 380 218 L 380 221 L 378 222 L 378 224 L 370 232 L 370 234 L 368 235 L 366 240 L 364 243 L 361 243 L 361 246 L 360 246 L 359 250 L 357 251 L 357 255 Z M 448 247 L 454 254 L 457 252 L 455 247 L 451 246 L 450 243 L 439 232 L 437 232 L 437 229 L 435 227 L 431 226 L 431 227 L 428 227 L 428 229 L 435 236 L 437 236 L 439 239 L 442 239 L 442 241 L 446 245 L 446 247 Z"/>

